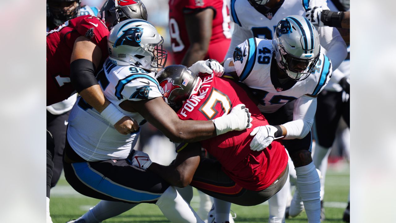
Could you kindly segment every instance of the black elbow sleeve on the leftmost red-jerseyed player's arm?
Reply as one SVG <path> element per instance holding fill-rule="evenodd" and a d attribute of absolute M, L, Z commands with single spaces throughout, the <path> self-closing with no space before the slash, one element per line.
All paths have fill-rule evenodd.
<path fill-rule="evenodd" d="M 78 59 L 70 63 L 70 81 L 78 93 L 98 84 L 95 69 L 95 64 L 86 59 Z"/>

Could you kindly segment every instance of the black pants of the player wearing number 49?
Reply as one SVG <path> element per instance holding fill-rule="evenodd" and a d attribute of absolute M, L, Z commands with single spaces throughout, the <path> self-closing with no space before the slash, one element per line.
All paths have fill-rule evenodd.
<path fill-rule="evenodd" d="M 282 125 L 286 122 L 293 121 L 294 101 L 286 103 L 274 113 L 262 113 L 270 125 Z M 282 140 L 289 155 L 298 150 L 312 151 L 311 131 L 304 138 Z"/>

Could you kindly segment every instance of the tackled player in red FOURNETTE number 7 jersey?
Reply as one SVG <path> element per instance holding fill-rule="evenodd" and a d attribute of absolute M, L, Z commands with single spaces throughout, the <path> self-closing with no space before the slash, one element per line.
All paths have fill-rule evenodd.
<path fill-rule="evenodd" d="M 164 100 L 178 110 L 180 119 L 210 120 L 244 103 L 253 118 L 253 128 L 268 125 L 256 104 L 237 83 L 213 74 L 201 78 L 182 65 L 168 66 L 156 75 Z M 169 166 L 147 165 L 151 161 L 140 151 L 135 151 L 133 157 L 139 161 L 135 163 L 137 167 L 145 166 L 143 169 L 157 173 L 171 185 L 183 188 L 190 184 L 214 198 L 253 206 L 268 200 L 285 184 L 288 158 L 278 140 L 263 151 L 252 151 L 249 146 L 252 129 L 225 133 L 200 143 L 180 144 L 177 158 Z M 200 159 L 201 146 L 217 160 Z M 215 206 L 217 201 L 222 202 L 220 200 L 215 199 Z M 228 222 L 228 217 L 229 209 L 216 212 L 215 221 Z"/>

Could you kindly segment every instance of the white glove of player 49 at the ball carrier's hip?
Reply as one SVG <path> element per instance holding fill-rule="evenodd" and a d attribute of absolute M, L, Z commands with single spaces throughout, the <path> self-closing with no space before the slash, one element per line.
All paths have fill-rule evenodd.
<path fill-rule="evenodd" d="M 255 135 L 250 142 L 250 149 L 253 151 L 261 151 L 267 148 L 274 139 L 282 138 L 283 136 L 275 138 L 274 134 L 276 131 L 278 131 L 278 129 L 272 125 L 255 127 L 250 133 L 251 136 Z"/>

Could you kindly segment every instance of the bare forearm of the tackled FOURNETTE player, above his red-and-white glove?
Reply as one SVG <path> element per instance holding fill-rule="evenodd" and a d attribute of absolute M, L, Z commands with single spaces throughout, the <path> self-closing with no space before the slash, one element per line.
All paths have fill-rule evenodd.
<path fill-rule="evenodd" d="M 174 165 L 163 166 L 158 163 L 152 163 L 147 170 L 156 173 L 161 176 L 166 182 L 172 186 L 183 188 L 188 186 L 190 182 L 187 179 L 183 179 L 183 175 Z"/>

